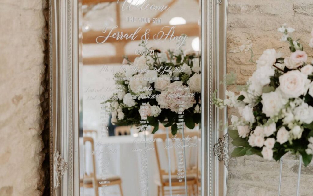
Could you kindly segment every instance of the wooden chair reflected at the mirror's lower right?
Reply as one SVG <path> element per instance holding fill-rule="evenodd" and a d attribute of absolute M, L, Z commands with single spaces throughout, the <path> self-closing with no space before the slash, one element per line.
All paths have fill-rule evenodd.
<path fill-rule="evenodd" d="M 185 132 L 185 138 L 187 138 L 188 136 L 191 138 L 193 138 L 193 141 L 198 143 L 198 135 L 199 132 L 198 131 L 190 131 L 190 132 Z M 172 134 L 169 134 L 170 140 L 172 138 Z M 177 133 L 177 138 L 182 139 L 182 134 L 178 134 Z M 156 142 L 154 142 L 154 147 L 155 147 L 155 152 L 156 152 L 156 158 L 157 158 L 157 165 L 159 168 L 159 175 L 160 175 L 160 185 L 158 186 L 158 196 L 160 196 L 160 191 L 162 191 L 162 196 L 165 196 L 165 193 L 169 194 L 168 190 L 165 190 L 165 187 L 169 187 L 169 172 L 171 172 L 171 178 L 172 178 L 172 187 L 184 187 L 185 186 L 185 182 L 184 182 L 184 178 L 182 181 L 180 181 L 177 178 L 177 172 L 178 172 L 178 166 L 177 166 L 177 152 L 175 149 L 175 142 L 173 142 L 172 144 L 174 144 L 174 147 L 171 148 L 171 153 L 173 154 L 174 157 L 172 157 L 172 161 L 175 162 L 175 171 L 172 172 L 171 167 L 168 169 L 168 171 L 165 171 L 164 169 L 162 169 L 161 166 L 161 161 L 160 161 L 160 153 L 162 153 L 162 148 L 160 150 L 158 150 L 158 146 L 160 143 L 162 143 L 164 146 L 163 150 L 164 153 L 166 154 L 166 161 L 168 162 L 168 154 L 167 154 L 167 149 L 165 148 L 165 146 L 167 145 L 167 137 L 166 137 L 166 133 L 161 133 L 161 134 L 155 134 L 154 138 L 156 138 Z M 194 139 L 195 138 L 195 139 Z M 160 142 L 160 139 L 162 140 L 162 142 Z M 192 156 L 192 150 L 188 151 L 186 150 L 186 162 L 188 162 L 188 166 L 186 166 L 186 177 L 187 177 L 187 186 L 188 186 L 188 196 L 191 195 L 198 195 L 198 179 L 199 179 L 199 172 L 198 172 L 198 145 L 196 146 L 197 148 L 197 160 L 192 160 L 191 156 Z M 188 156 L 187 156 L 188 154 Z M 194 161 L 194 163 L 192 164 L 192 161 Z M 185 193 L 185 189 L 181 188 L 181 189 L 173 189 L 173 194 L 184 194 Z"/>

